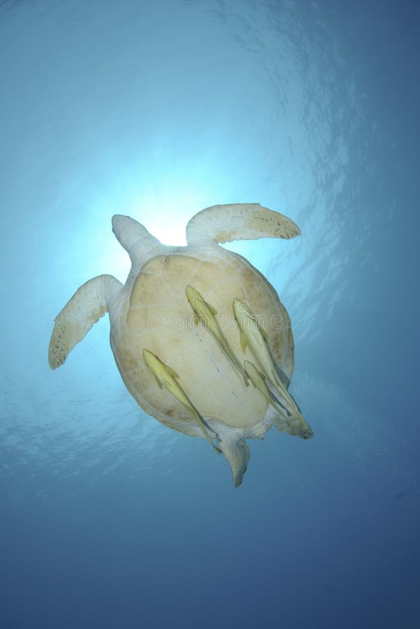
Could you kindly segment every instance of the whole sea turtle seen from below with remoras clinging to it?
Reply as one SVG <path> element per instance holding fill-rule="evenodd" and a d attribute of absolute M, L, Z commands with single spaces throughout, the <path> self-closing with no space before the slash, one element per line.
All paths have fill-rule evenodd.
<path fill-rule="evenodd" d="M 285 307 L 257 269 L 219 246 L 294 238 L 299 227 L 259 203 L 234 203 L 193 216 L 186 247 L 161 244 L 128 216 L 112 217 L 112 231 L 130 256 L 126 284 L 99 275 L 76 291 L 55 319 L 52 369 L 109 312 L 112 352 L 133 398 L 165 426 L 207 438 L 235 486 L 247 438 L 263 438 L 273 423 L 311 437 L 287 391 L 294 343 Z"/>

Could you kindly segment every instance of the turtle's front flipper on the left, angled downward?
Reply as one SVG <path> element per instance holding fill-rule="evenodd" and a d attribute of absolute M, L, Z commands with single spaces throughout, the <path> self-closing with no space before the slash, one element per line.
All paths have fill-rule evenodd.
<path fill-rule="evenodd" d="M 63 364 L 76 343 L 105 315 L 110 299 L 121 288 L 121 282 L 112 275 L 98 275 L 77 289 L 55 319 L 48 350 L 52 369 Z"/>

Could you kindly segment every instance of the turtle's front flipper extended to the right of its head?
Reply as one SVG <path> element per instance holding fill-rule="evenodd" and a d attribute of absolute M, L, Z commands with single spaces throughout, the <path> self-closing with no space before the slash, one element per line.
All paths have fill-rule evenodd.
<path fill-rule="evenodd" d="M 228 243 L 232 240 L 254 238 L 294 238 L 301 233 L 292 220 L 263 208 L 260 203 L 229 203 L 213 205 L 198 212 L 187 225 L 188 245 L 202 245 L 213 240 Z"/>

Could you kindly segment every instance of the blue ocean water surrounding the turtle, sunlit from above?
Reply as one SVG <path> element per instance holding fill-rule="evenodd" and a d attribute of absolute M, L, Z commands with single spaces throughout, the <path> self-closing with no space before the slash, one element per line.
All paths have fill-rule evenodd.
<path fill-rule="evenodd" d="M 400 628 L 419 600 L 419 36 L 414 1 L 0 2 L 0 626 Z M 183 244 L 259 202 L 295 240 L 231 243 L 292 319 L 313 427 L 223 456 L 128 394 L 103 317 L 115 213 Z"/>

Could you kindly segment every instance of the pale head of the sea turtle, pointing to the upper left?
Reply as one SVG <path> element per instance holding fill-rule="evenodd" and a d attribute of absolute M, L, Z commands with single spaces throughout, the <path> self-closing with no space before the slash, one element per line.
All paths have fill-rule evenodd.
<path fill-rule="evenodd" d="M 156 249 L 161 247 L 157 238 L 152 236 L 141 223 L 129 216 L 115 214 L 112 217 L 112 231 L 118 242 L 128 252 L 133 264 L 147 261 L 153 257 Z"/>

